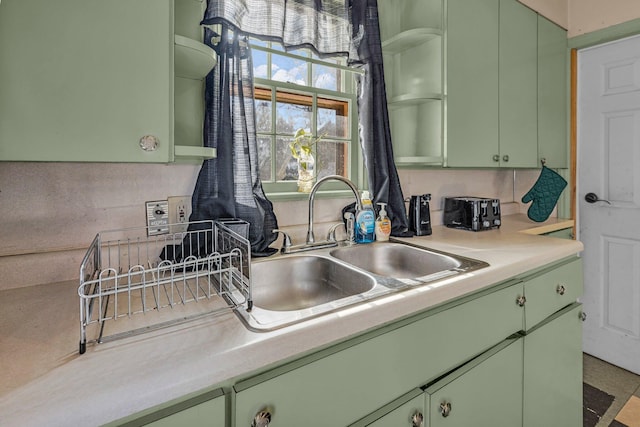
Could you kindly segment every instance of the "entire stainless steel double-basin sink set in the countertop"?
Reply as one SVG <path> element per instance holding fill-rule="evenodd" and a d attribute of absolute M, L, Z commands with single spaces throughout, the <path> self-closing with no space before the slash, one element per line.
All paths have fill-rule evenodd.
<path fill-rule="evenodd" d="M 482 261 L 398 242 L 341 246 L 254 262 L 252 330 L 273 330 L 381 296 L 487 267 Z"/>

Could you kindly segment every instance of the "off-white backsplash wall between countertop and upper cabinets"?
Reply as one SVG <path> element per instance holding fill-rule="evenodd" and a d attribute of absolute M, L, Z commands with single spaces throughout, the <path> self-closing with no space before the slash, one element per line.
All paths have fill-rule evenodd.
<path fill-rule="evenodd" d="M 0 290 L 77 279 L 86 247 L 98 231 L 145 225 L 144 202 L 189 195 L 200 167 L 107 163 L 0 162 Z M 405 198 L 432 194 L 440 224 L 442 198 L 499 198 L 505 214 L 526 212 L 518 202 L 539 170 L 400 170 Z M 317 199 L 318 237 L 340 221 L 351 199 Z M 280 227 L 306 232 L 307 200 L 274 202 Z M 296 240 L 299 241 L 299 240 Z"/>

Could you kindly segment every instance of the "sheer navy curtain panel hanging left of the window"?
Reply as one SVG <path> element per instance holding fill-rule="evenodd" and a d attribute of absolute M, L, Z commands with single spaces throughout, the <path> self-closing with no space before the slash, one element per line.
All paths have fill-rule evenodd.
<path fill-rule="evenodd" d="M 251 51 L 246 36 L 225 26 L 220 34 L 205 28 L 205 43 L 218 54 L 206 77 L 204 123 L 205 145 L 216 148 L 217 157 L 200 169 L 190 220 L 243 219 L 252 254 L 270 255 L 278 223 L 258 171 Z"/>

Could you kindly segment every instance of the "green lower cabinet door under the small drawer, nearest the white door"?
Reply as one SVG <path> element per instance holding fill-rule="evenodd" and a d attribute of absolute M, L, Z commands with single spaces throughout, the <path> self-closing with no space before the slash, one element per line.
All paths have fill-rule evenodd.
<path fill-rule="evenodd" d="M 524 427 L 582 426 L 582 306 L 524 337 Z"/>

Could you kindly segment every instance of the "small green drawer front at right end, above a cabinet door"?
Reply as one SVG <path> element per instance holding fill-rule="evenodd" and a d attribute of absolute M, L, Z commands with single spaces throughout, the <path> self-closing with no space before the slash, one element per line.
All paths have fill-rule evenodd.
<path fill-rule="evenodd" d="M 524 283 L 525 331 L 576 301 L 583 291 L 582 258 L 547 271 Z"/>

